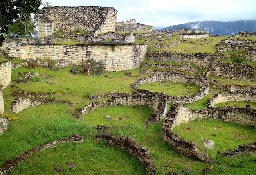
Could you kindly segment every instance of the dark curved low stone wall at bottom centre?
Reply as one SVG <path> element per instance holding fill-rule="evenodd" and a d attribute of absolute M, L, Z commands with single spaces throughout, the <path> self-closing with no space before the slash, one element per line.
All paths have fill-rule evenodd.
<path fill-rule="evenodd" d="M 94 133 L 94 138 L 99 141 L 100 138 L 104 140 L 109 147 L 118 147 L 126 150 L 128 153 L 134 155 L 142 165 L 145 166 L 148 175 L 155 175 L 157 173 L 157 166 L 154 164 L 153 159 L 149 156 L 150 151 L 147 147 L 141 147 L 141 144 L 136 143 L 133 138 L 119 136 L 111 136 L 110 133 L 105 132 Z"/>

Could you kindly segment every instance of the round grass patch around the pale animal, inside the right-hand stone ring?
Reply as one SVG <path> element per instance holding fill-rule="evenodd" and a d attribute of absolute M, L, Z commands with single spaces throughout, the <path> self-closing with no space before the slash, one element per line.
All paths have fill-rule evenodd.
<path fill-rule="evenodd" d="M 173 131 L 178 133 L 179 137 L 195 141 L 201 151 L 207 152 L 203 146 L 203 139 L 213 140 L 214 151 L 208 150 L 213 159 L 216 159 L 216 153 L 219 150 L 234 150 L 234 147 L 238 147 L 239 144 L 249 144 L 256 140 L 256 128 L 209 119 L 182 123 L 174 127 Z"/>

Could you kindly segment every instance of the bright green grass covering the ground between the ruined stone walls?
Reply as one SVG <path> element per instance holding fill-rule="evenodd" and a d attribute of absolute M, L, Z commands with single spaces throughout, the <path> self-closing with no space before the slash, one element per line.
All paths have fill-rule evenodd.
<path fill-rule="evenodd" d="M 196 39 L 191 43 L 181 43 L 168 50 L 181 52 L 212 52 L 215 44 L 227 36 L 209 37 L 205 39 Z M 177 38 L 168 37 L 162 42 L 168 44 Z M 189 39 L 190 40 L 190 39 Z M 153 44 L 154 41 L 144 39 L 140 43 Z M 214 46 L 214 47 L 213 47 Z M 15 60 L 16 62 L 18 60 Z M 168 62 L 167 62 L 168 63 Z M 175 63 L 178 64 L 178 63 Z M 213 120 L 197 120 L 175 127 L 174 131 L 180 137 L 195 141 L 200 149 L 202 138 L 215 140 L 215 151 L 208 150 L 207 153 L 216 162 L 205 164 L 177 153 L 170 144 L 161 138 L 162 122 L 150 124 L 145 127 L 145 120 L 153 112 L 145 106 L 111 106 L 101 109 L 95 109 L 88 114 L 82 115 L 80 122 L 72 117 L 72 113 L 77 108 L 83 107 L 92 102 L 89 95 L 106 94 L 108 92 L 129 92 L 132 93 L 131 83 L 139 79 L 139 68 L 127 70 L 132 72 L 131 76 L 121 72 L 104 72 L 101 76 L 84 74 L 71 74 L 69 69 L 72 66 L 60 68 L 58 71 L 52 71 L 48 68 L 38 67 L 28 69 L 27 66 L 12 70 L 12 87 L 8 86 L 3 90 L 4 94 L 4 116 L 13 116 L 15 119 L 8 125 L 4 134 L 0 135 L 0 164 L 13 158 L 22 151 L 25 151 L 34 145 L 41 144 L 50 140 L 56 140 L 61 137 L 71 136 L 72 133 L 81 133 L 84 141 L 79 144 L 67 143 L 58 145 L 54 149 L 40 151 L 31 158 L 18 164 L 18 167 L 10 174 L 88 174 L 88 175 L 143 175 L 145 168 L 140 162 L 126 151 L 105 147 L 101 142 L 96 144 L 92 138 L 94 132 L 98 132 L 94 126 L 107 124 L 116 126 L 109 130 L 114 136 L 130 136 L 134 138 L 141 146 L 146 146 L 150 150 L 155 164 L 157 165 L 157 174 L 162 175 L 169 171 L 181 172 L 184 168 L 192 169 L 191 174 L 199 174 L 203 168 L 211 169 L 207 174 L 238 174 L 254 175 L 256 174 L 255 162 L 256 156 L 253 154 L 243 154 L 234 158 L 216 157 L 216 151 L 225 151 L 234 149 L 239 144 L 248 144 L 254 142 L 255 128 L 241 126 L 234 123 L 225 123 Z M 82 69 L 76 66 L 78 69 Z M 39 72 L 40 76 L 27 83 L 16 83 L 13 80 L 19 78 L 22 72 Z M 108 76 L 108 77 L 105 77 Z M 148 74 L 144 74 L 143 77 Z M 113 78 L 110 79 L 110 76 Z M 213 76 L 210 76 L 213 77 Z M 222 84 L 252 85 L 254 82 L 237 81 L 213 77 Z M 165 92 L 168 95 L 182 95 L 187 93 L 192 95 L 200 87 L 193 86 L 193 92 L 186 92 L 184 83 L 157 82 L 139 85 L 139 88 L 149 89 L 156 92 Z M 74 103 L 71 107 L 69 103 L 51 103 L 27 108 L 18 114 L 9 112 L 9 106 L 17 97 L 17 90 L 27 92 L 52 92 L 56 94 L 57 99 L 69 99 Z M 206 108 L 206 101 L 220 90 L 210 86 L 209 94 L 200 101 L 186 105 L 189 109 Z M 223 91 L 222 91 L 223 92 Z M 49 98 L 48 96 L 47 98 Z M 101 100 L 101 99 L 97 99 Z M 247 102 L 226 102 L 221 105 L 240 105 L 245 106 Z M 255 107 L 255 103 L 250 103 Z M 168 103 L 168 109 L 171 103 Z M 71 112 L 67 113 L 67 109 Z M 112 119 L 104 118 L 110 115 Z M 126 119 L 126 117 L 128 117 Z M 187 129 L 190 128 L 190 129 Z M 65 164 L 67 162 L 76 162 L 78 166 L 70 168 Z M 55 165 L 63 166 L 63 171 L 56 171 Z M 211 168 L 213 166 L 213 168 Z"/>

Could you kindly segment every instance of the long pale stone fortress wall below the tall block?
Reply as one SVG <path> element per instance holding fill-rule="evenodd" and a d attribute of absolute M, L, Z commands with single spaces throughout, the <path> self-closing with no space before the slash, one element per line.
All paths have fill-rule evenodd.
<path fill-rule="evenodd" d="M 66 60 L 81 65 L 82 61 L 96 63 L 106 71 L 137 68 L 144 60 L 146 44 L 52 44 L 31 42 L 31 39 L 7 40 L 2 47 L 9 57 L 19 59 Z"/>

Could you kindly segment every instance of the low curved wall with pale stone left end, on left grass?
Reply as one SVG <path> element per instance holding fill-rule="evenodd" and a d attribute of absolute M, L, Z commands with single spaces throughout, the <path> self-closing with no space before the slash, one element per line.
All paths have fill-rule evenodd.
<path fill-rule="evenodd" d="M 55 98 L 34 98 L 31 99 L 29 97 L 19 97 L 16 98 L 11 106 L 10 106 L 10 110 L 14 113 L 19 113 L 20 111 L 29 108 L 29 107 L 34 107 L 37 105 L 42 105 L 45 103 L 70 103 L 70 105 L 73 105 L 72 101 L 69 100 L 57 100 Z"/>

